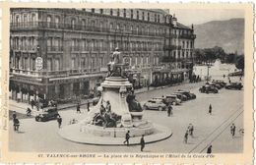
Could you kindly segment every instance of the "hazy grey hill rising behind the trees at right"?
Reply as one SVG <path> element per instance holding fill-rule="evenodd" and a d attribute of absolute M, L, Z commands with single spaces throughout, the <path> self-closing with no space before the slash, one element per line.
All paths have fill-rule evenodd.
<path fill-rule="evenodd" d="M 194 26 L 197 35 L 195 48 L 211 48 L 220 46 L 226 53 L 244 50 L 244 19 L 212 21 Z"/>

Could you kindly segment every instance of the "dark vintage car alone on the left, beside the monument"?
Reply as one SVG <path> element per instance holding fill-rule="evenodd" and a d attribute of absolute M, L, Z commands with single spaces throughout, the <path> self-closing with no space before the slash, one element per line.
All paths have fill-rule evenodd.
<path fill-rule="evenodd" d="M 42 113 L 35 116 L 36 122 L 46 122 L 52 119 L 57 119 L 59 113 L 56 107 L 50 107 L 45 109 Z"/>

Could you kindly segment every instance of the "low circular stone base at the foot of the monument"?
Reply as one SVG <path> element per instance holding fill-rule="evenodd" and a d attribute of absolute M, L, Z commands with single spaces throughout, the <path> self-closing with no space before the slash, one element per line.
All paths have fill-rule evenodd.
<path fill-rule="evenodd" d="M 80 128 L 80 129 L 79 129 Z M 140 144 L 145 135 L 146 143 L 157 142 L 171 137 L 171 131 L 160 125 L 150 124 L 142 128 L 102 128 L 94 125 L 81 127 L 81 123 L 69 125 L 59 130 L 62 138 L 73 142 L 95 145 L 124 145 L 124 135 L 130 131 L 130 144 Z M 93 134 L 92 134 L 93 133 Z"/>

